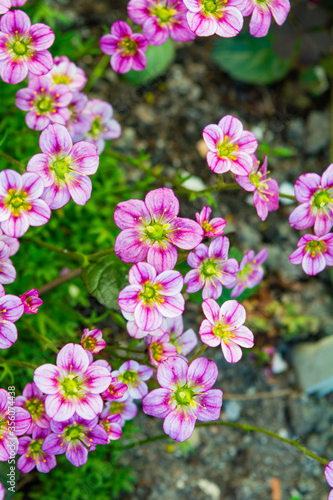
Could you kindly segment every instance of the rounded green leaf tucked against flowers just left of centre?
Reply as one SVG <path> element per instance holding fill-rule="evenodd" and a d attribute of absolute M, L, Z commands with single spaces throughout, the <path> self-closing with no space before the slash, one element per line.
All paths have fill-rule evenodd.
<path fill-rule="evenodd" d="M 83 284 L 98 302 L 109 309 L 119 309 L 118 295 L 128 285 L 129 268 L 113 252 L 107 251 L 83 269 Z"/>

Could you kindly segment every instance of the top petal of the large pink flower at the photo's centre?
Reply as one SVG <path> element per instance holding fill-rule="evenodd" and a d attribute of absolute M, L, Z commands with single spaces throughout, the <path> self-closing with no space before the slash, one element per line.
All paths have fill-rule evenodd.
<path fill-rule="evenodd" d="M 171 222 L 179 212 L 179 201 L 170 188 L 159 188 L 149 191 L 145 204 L 154 221 L 160 224 Z"/>

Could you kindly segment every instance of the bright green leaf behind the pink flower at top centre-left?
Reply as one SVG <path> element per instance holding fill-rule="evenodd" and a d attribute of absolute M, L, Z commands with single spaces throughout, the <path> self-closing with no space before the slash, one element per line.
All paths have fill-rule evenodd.
<path fill-rule="evenodd" d="M 146 52 L 147 66 L 142 71 L 131 69 L 124 79 L 132 85 L 145 85 L 152 82 L 157 77 L 163 75 L 169 68 L 175 57 L 175 47 L 173 41 L 169 40 L 163 45 L 154 47 L 150 45 Z"/>

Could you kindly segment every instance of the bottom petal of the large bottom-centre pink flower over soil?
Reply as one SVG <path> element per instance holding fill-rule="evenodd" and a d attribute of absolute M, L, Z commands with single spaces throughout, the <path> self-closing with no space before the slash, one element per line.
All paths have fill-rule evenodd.
<path fill-rule="evenodd" d="M 164 432 L 175 441 L 186 441 L 193 431 L 196 418 L 188 408 L 179 407 L 169 413 L 163 422 Z"/>

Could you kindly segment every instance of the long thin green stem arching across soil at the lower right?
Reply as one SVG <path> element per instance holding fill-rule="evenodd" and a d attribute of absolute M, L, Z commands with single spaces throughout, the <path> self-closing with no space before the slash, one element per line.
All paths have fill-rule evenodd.
<path fill-rule="evenodd" d="M 298 443 L 297 439 L 284 438 L 284 437 L 279 436 L 275 432 L 269 431 L 267 429 L 262 429 L 261 427 L 256 427 L 254 425 L 237 424 L 235 422 L 203 422 L 203 423 L 197 424 L 196 427 L 209 427 L 209 426 L 212 426 L 212 425 L 221 425 L 221 426 L 225 426 L 225 427 L 234 427 L 236 429 L 241 429 L 241 430 L 243 430 L 245 432 L 254 431 L 254 432 L 260 432 L 261 434 L 266 434 L 267 436 L 271 436 L 271 437 L 273 437 L 275 439 L 278 439 L 279 441 L 283 441 L 284 443 L 288 443 L 291 446 L 294 446 L 298 450 L 300 450 L 303 453 L 305 453 L 305 455 L 313 458 L 314 460 L 317 460 L 318 462 L 320 462 L 323 465 L 327 465 L 328 464 L 328 460 L 326 460 L 325 458 L 320 457 L 319 455 L 316 455 L 315 453 L 313 453 L 312 451 L 308 450 L 304 446 L 301 446 Z M 153 441 L 159 441 L 159 440 L 162 440 L 162 439 L 166 439 L 167 437 L 168 436 L 166 434 L 160 434 L 158 436 L 153 436 L 151 438 L 143 439 L 142 441 L 138 441 L 137 443 L 130 443 L 130 444 L 126 445 L 126 446 L 122 446 L 120 449 L 121 450 L 129 450 L 131 448 L 134 448 L 135 446 L 141 446 L 141 445 L 144 445 L 144 444 L 147 444 L 147 443 L 151 443 Z"/>

